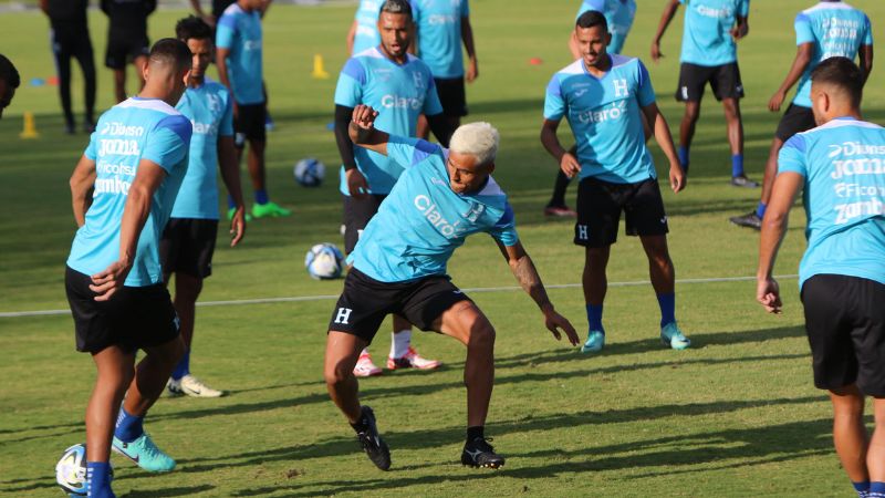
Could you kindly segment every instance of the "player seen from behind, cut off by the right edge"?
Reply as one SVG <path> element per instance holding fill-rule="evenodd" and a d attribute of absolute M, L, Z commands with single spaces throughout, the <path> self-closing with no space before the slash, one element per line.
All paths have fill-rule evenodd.
<path fill-rule="evenodd" d="M 804 191 L 808 249 L 799 264 L 814 385 L 833 404 L 833 443 L 861 498 L 885 496 L 885 129 L 861 117 L 866 73 L 851 59 L 811 73 L 819 127 L 793 135 L 762 220 L 757 300 L 782 309 L 772 278 L 790 208 Z M 875 428 L 867 436 L 865 396 Z"/>

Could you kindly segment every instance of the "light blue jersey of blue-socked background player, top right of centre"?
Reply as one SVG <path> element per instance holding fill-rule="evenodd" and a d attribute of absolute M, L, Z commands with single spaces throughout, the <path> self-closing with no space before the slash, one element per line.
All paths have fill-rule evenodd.
<path fill-rule="evenodd" d="M 731 29 L 750 15 L 750 0 L 679 0 L 684 3 L 681 61 L 712 68 L 738 61 Z"/>

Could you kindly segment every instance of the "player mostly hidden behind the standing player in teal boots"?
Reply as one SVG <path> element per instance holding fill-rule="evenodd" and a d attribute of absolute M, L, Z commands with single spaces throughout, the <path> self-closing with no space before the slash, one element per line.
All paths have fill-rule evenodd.
<path fill-rule="evenodd" d="M 577 9 L 575 20 L 584 12 L 595 10 L 605 15 L 605 21 L 608 23 L 608 32 L 612 33 L 612 44 L 608 45 L 608 53 L 620 54 L 627 41 L 627 34 L 633 27 L 633 20 L 636 18 L 636 1 L 635 0 L 584 0 L 581 8 Z M 577 45 L 574 30 L 569 35 L 569 50 L 572 52 L 572 59 L 581 59 L 581 49 Z M 569 151 L 571 155 L 575 155 L 576 149 L 572 147 Z M 565 190 L 569 187 L 570 178 L 562 173 L 562 169 L 556 170 L 556 183 L 553 185 L 553 196 L 550 203 L 544 208 L 545 216 L 561 216 L 574 217 L 577 214 L 570 209 L 565 204 Z"/>

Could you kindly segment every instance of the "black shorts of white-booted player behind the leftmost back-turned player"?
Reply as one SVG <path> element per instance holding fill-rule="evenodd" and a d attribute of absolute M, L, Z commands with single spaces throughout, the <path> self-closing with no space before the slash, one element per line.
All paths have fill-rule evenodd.
<path fill-rule="evenodd" d="M 185 273 L 200 279 L 212 274 L 216 237 L 217 219 L 169 218 L 159 240 L 164 273 Z"/>

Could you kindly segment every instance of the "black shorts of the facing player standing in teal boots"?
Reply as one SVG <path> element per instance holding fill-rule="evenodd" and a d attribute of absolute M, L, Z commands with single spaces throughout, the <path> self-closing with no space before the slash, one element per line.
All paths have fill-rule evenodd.
<path fill-rule="evenodd" d="M 628 236 L 658 236 L 669 231 L 656 179 L 612 184 L 590 177 L 577 185 L 574 243 L 584 247 L 615 243 L 621 211 L 624 211 Z"/>

